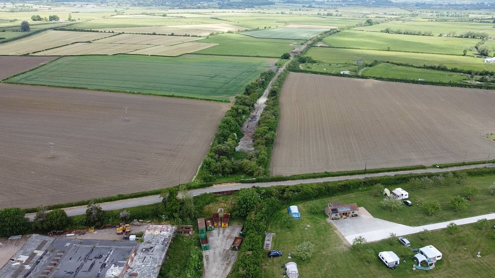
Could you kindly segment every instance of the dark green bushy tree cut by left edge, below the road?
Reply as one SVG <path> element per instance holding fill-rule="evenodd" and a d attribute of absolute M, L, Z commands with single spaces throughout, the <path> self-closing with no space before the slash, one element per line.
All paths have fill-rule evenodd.
<path fill-rule="evenodd" d="M 29 219 L 20 208 L 0 210 L 0 237 L 23 234 L 28 229 Z"/>

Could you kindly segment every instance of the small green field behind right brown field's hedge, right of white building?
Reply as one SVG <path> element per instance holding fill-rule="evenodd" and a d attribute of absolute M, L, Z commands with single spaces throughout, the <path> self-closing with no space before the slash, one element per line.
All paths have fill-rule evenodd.
<path fill-rule="evenodd" d="M 460 83 L 462 80 L 468 79 L 466 75 L 461 75 L 457 72 L 418 69 L 413 67 L 397 66 L 389 63 L 383 63 L 374 67 L 366 68 L 363 70 L 361 75 L 409 80 L 424 79 L 425 81 L 454 83 Z"/>

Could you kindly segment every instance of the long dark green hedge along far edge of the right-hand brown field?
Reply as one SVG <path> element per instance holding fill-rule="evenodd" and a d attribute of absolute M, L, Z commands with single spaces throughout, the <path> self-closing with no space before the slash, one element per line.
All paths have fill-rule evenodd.
<path fill-rule="evenodd" d="M 349 74 L 338 74 L 338 73 L 330 73 L 330 72 L 310 71 L 310 70 L 294 69 L 294 68 L 290 68 L 289 71 L 291 71 L 291 72 L 299 72 L 299 73 L 309 73 L 309 74 L 339 76 L 339 77 L 347 77 L 347 78 L 374 79 L 374 80 L 378 80 L 378 81 L 388 81 L 388 82 L 398 82 L 398 83 L 411 83 L 411 84 L 443 86 L 443 87 L 459 87 L 459 88 L 495 90 L 495 86 L 486 86 L 486 85 L 463 84 L 463 83 L 446 83 L 446 82 L 432 82 L 432 81 L 418 81 L 418 80 L 385 78 L 385 77 L 375 77 L 375 76 L 360 76 L 360 75 L 349 75 Z"/>

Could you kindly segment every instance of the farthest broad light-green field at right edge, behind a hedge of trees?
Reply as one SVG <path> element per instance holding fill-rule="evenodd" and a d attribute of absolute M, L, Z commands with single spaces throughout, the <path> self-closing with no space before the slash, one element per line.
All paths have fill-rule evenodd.
<path fill-rule="evenodd" d="M 401 30 L 420 30 L 432 31 L 433 35 L 438 36 L 440 33 L 447 35 L 448 32 L 455 31 L 457 35 L 468 31 L 487 32 L 490 36 L 495 37 L 494 24 L 476 23 L 476 22 L 443 22 L 443 21 L 391 21 L 377 25 L 356 28 L 365 31 L 378 31 L 386 28 Z"/>

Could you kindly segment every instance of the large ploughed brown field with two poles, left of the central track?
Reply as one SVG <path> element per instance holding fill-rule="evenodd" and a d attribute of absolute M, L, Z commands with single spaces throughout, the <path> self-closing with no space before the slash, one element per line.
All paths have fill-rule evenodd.
<path fill-rule="evenodd" d="M 213 101 L 0 84 L 0 208 L 162 188 L 179 184 L 179 175 L 181 183 L 189 182 L 228 108 Z"/>

